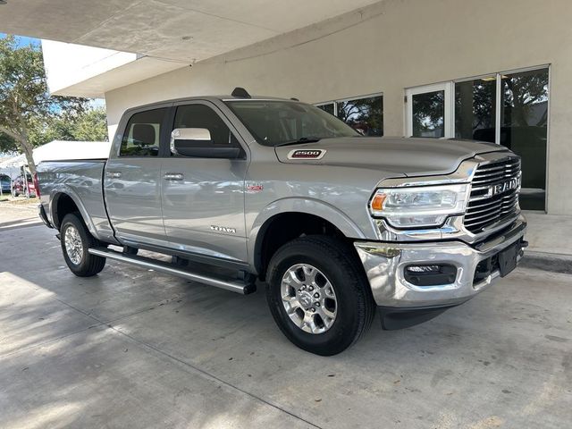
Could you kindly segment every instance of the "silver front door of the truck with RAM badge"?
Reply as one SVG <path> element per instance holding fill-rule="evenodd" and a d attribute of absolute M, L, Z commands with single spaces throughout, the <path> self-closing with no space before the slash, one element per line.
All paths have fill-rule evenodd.
<path fill-rule="evenodd" d="M 176 136 L 185 134 L 183 129 L 198 134 L 187 133 L 185 140 L 177 141 L 189 149 L 187 156 L 175 149 L 163 160 L 164 227 L 172 248 L 244 262 L 246 147 L 215 105 L 195 101 L 173 109 L 171 146 Z M 225 157 L 232 148 L 240 150 Z"/>

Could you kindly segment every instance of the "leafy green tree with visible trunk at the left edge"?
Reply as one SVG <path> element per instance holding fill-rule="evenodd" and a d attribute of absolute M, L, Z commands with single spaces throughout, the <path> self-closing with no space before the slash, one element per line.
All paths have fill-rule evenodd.
<path fill-rule="evenodd" d="M 50 97 L 42 53 L 35 46 L 18 46 L 13 36 L 0 39 L 0 133 L 16 143 L 36 172 L 34 141 L 58 116 L 77 116 L 88 99 Z M 4 138 L 5 139 L 5 138 Z"/>

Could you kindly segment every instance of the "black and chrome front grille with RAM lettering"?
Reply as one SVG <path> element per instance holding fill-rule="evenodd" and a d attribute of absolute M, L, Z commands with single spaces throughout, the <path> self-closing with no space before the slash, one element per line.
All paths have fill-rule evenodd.
<path fill-rule="evenodd" d="M 509 156 L 476 168 L 465 214 L 465 228 L 475 234 L 518 214 L 520 158 Z"/>

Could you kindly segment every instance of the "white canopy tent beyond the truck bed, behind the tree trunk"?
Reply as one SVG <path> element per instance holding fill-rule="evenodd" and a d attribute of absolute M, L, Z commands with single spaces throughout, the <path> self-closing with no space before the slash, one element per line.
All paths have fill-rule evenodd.
<path fill-rule="evenodd" d="M 42 161 L 107 158 L 110 147 L 109 141 L 54 140 L 34 149 L 34 162 L 38 165 Z M 27 164 L 23 154 L 13 156 L 0 163 L 0 173 L 14 179 L 21 174 L 21 167 Z"/>

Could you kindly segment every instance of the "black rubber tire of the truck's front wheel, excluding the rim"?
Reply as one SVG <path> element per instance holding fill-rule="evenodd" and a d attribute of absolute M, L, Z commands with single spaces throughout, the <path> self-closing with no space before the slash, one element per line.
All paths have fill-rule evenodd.
<path fill-rule="evenodd" d="M 282 304 L 282 277 L 297 264 L 312 265 L 331 282 L 337 315 L 327 331 L 304 332 Z M 353 248 L 328 236 L 307 236 L 279 248 L 268 265 L 266 299 L 278 327 L 300 349 L 332 356 L 348 349 L 367 332 L 375 315 L 374 298 Z"/>

